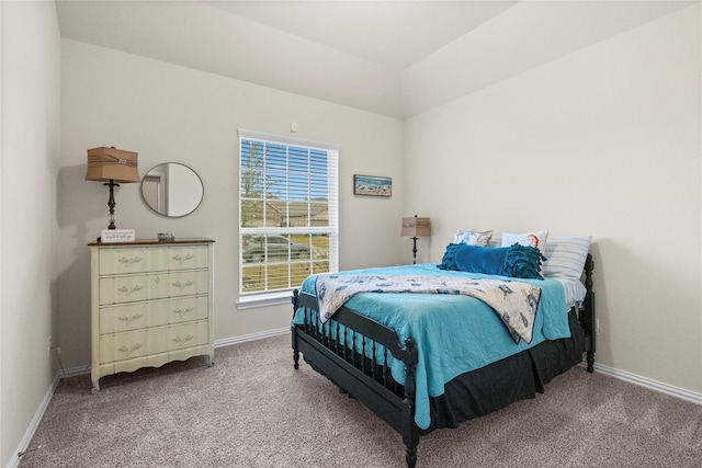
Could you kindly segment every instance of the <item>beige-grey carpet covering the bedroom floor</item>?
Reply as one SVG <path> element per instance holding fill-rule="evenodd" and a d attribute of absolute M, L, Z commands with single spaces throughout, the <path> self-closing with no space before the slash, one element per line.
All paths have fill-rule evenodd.
<path fill-rule="evenodd" d="M 397 433 L 290 336 L 101 379 L 63 379 L 27 467 L 404 467 Z M 420 440 L 418 467 L 700 467 L 702 407 L 575 367 L 546 393 Z"/>

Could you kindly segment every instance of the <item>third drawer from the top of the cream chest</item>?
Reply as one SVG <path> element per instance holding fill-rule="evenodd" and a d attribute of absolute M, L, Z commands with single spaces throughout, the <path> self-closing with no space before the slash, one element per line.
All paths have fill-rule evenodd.
<path fill-rule="evenodd" d="M 100 334 L 205 320 L 207 317 L 207 296 L 107 306 L 100 308 Z"/>

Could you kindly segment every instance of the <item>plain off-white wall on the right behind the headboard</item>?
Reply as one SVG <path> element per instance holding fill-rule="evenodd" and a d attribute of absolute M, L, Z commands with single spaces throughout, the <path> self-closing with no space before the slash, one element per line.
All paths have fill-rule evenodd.
<path fill-rule="evenodd" d="M 702 392 L 700 4 L 407 122 L 405 207 L 592 235 L 597 362 Z"/>

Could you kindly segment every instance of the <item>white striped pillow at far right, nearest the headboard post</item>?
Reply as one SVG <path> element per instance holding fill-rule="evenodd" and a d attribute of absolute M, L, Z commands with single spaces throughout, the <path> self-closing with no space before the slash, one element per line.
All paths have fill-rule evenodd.
<path fill-rule="evenodd" d="M 546 244 L 544 276 L 580 281 L 591 237 L 551 237 Z"/>

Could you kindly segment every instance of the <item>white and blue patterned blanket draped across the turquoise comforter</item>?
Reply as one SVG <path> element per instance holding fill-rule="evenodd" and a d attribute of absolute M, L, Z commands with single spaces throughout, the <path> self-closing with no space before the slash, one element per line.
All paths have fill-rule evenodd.
<path fill-rule="evenodd" d="M 501 279 L 454 276 L 319 275 L 317 300 L 319 317 L 327 321 L 359 293 L 430 293 L 472 296 L 490 306 L 505 322 L 514 343 L 531 343 L 541 288 Z"/>

